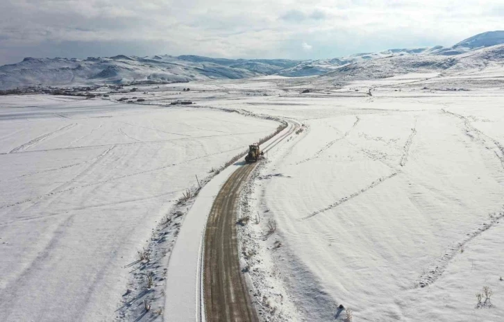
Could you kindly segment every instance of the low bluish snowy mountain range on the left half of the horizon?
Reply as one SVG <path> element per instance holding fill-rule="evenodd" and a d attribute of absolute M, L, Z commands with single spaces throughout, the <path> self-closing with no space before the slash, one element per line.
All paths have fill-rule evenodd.
<path fill-rule="evenodd" d="M 33 85 L 91 85 L 96 83 L 178 83 L 201 79 L 238 79 L 274 74 L 296 60 L 228 60 L 200 56 L 114 56 L 24 58 L 0 67 L 0 90 Z"/>

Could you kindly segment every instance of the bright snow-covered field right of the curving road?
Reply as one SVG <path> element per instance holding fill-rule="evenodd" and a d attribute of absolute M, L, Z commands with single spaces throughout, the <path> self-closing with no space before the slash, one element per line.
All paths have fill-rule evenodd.
<path fill-rule="evenodd" d="M 253 104 L 308 126 L 270 153 L 242 214 L 259 222 L 243 262 L 271 321 L 342 320 L 340 304 L 353 321 L 502 321 L 504 88 L 410 81 Z M 485 286 L 492 305 L 476 307 Z"/>

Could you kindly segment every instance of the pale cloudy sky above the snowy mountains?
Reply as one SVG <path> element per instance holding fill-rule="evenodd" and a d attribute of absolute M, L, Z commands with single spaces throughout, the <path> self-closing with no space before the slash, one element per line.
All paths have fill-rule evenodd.
<path fill-rule="evenodd" d="M 503 29 L 503 0 L 1 0 L 0 65 L 119 53 L 333 58 Z"/>

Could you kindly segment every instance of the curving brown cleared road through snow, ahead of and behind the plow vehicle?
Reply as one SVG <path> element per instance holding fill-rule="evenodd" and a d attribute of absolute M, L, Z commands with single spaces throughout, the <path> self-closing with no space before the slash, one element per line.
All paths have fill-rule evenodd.
<path fill-rule="evenodd" d="M 286 133 L 269 143 L 268 151 L 299 128 L 289 124 Z M 203 248 L 205 319 L 209 322 L 253 321 L 258 316 L 251 303 L 238 256 L 236 211 L 243 184 L 257 163 L 245 164 L 224 183 L 208 217 Z"/>

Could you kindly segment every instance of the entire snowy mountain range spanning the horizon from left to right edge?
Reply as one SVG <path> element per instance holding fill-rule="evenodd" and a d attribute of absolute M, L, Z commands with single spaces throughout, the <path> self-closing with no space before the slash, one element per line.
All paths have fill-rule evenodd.
<path fill-rule="evenodd" d="M 176 83 L 204 79 L 280 76 L 383 78 L 412 71 L 460 72 L 498 65 L 504 31 L 489 31 L 457 44 L 322 60 L 232 60 L 203 56 L 114 56 L 109 58 L 25 58 L 0 67 L 0 90 L 33 85 Z M 501 64 L 502 65 L 502 64 Z M 499 65 L 500 66 L 500 65 Z"/>

